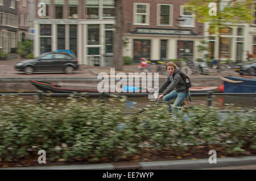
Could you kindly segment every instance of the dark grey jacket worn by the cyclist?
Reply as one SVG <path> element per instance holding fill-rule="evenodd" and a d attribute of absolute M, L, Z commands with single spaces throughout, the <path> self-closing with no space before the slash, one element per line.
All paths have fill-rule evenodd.
<path fill-rule="evenodd" d="M 162 83 L 162 85 L 160 86 L 159 93 L 162 93 L 164 90 L 166 90 L 163 92 L 163 95 L 167 95 L 174 89 L 176 89 L 177 92 L 184 92 L 186 94 L 188 93 L 185 87 L 185 81 L 183 80 L 181 75 L 177 73 L 177 71 L 179 70 L 180 68 L 176 66 L 173 74 L 174 76 L 171 76 L 170 74 L 168 75 L 166 81 L 164 81 L 164 83 Z"/>

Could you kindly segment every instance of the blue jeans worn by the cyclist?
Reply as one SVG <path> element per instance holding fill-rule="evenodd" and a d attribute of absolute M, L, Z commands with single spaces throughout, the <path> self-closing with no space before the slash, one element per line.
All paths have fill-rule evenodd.
<path fill-rule="evenodd" d="M 170 94 L 163 96 L 163 100 L 164 102 L 169 102 L 171 99 L 176 98 L 174 104 L 170 106 L 170 111 L 172 110 L 172 108 L 174 108 L 175 110 L 178 110 L 177 107 L 180 107 L 181 103 L 183 103 L 184 100 L 187 98 L 187 95 L 188 95 L 187 93 L 177 92 L 176 90 L 174 90 Z"/>

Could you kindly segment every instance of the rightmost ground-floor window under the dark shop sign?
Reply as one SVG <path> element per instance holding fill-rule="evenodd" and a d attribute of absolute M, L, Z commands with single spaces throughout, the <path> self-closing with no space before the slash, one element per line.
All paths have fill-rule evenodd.
<path fill-rule="evenodd" d="M 177 58 L 193 58 L 193 41 L 177 41 Z"/>

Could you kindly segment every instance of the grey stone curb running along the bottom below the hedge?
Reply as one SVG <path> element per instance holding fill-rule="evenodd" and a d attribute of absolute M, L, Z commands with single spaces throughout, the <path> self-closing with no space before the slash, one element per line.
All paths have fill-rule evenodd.
<path fill-rule="evenodd" d="M 156 162 L 117 162 L 88 165 L 67 166 L 39 166 L 39 167 L 10 167 L 0 170 L 193 170 L 209 169 L 218 167 L 255 165 L 256 156 L 217 158 L 217 163 L 210 164 L 208 159 L 179 160 L 179 161 L 156 161 Z"/>

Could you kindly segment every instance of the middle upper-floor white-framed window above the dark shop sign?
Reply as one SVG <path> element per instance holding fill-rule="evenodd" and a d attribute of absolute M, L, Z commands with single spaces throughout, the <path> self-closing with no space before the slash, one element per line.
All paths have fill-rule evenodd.
<path fill-rule="evenodd" d="M 158 5 L 158 25 L 172 25 L 172 5 Z"/>

